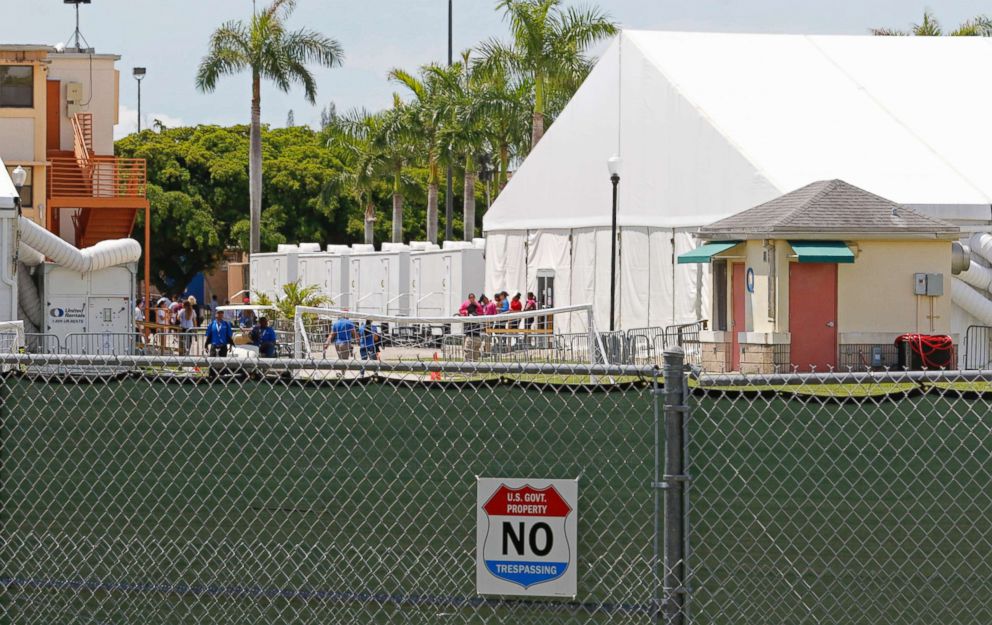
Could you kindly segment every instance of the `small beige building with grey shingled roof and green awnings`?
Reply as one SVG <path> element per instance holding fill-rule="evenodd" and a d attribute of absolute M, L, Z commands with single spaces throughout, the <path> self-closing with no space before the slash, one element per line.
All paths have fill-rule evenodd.
<path fill-rule="evenodd" d="M 959 228 L 840 180 L 700 228 L 712 263 L 707 370 L 896 366 L 896 339 L 951 333 Z M 957 337 L 952 337 L 956 342 Z"/>

